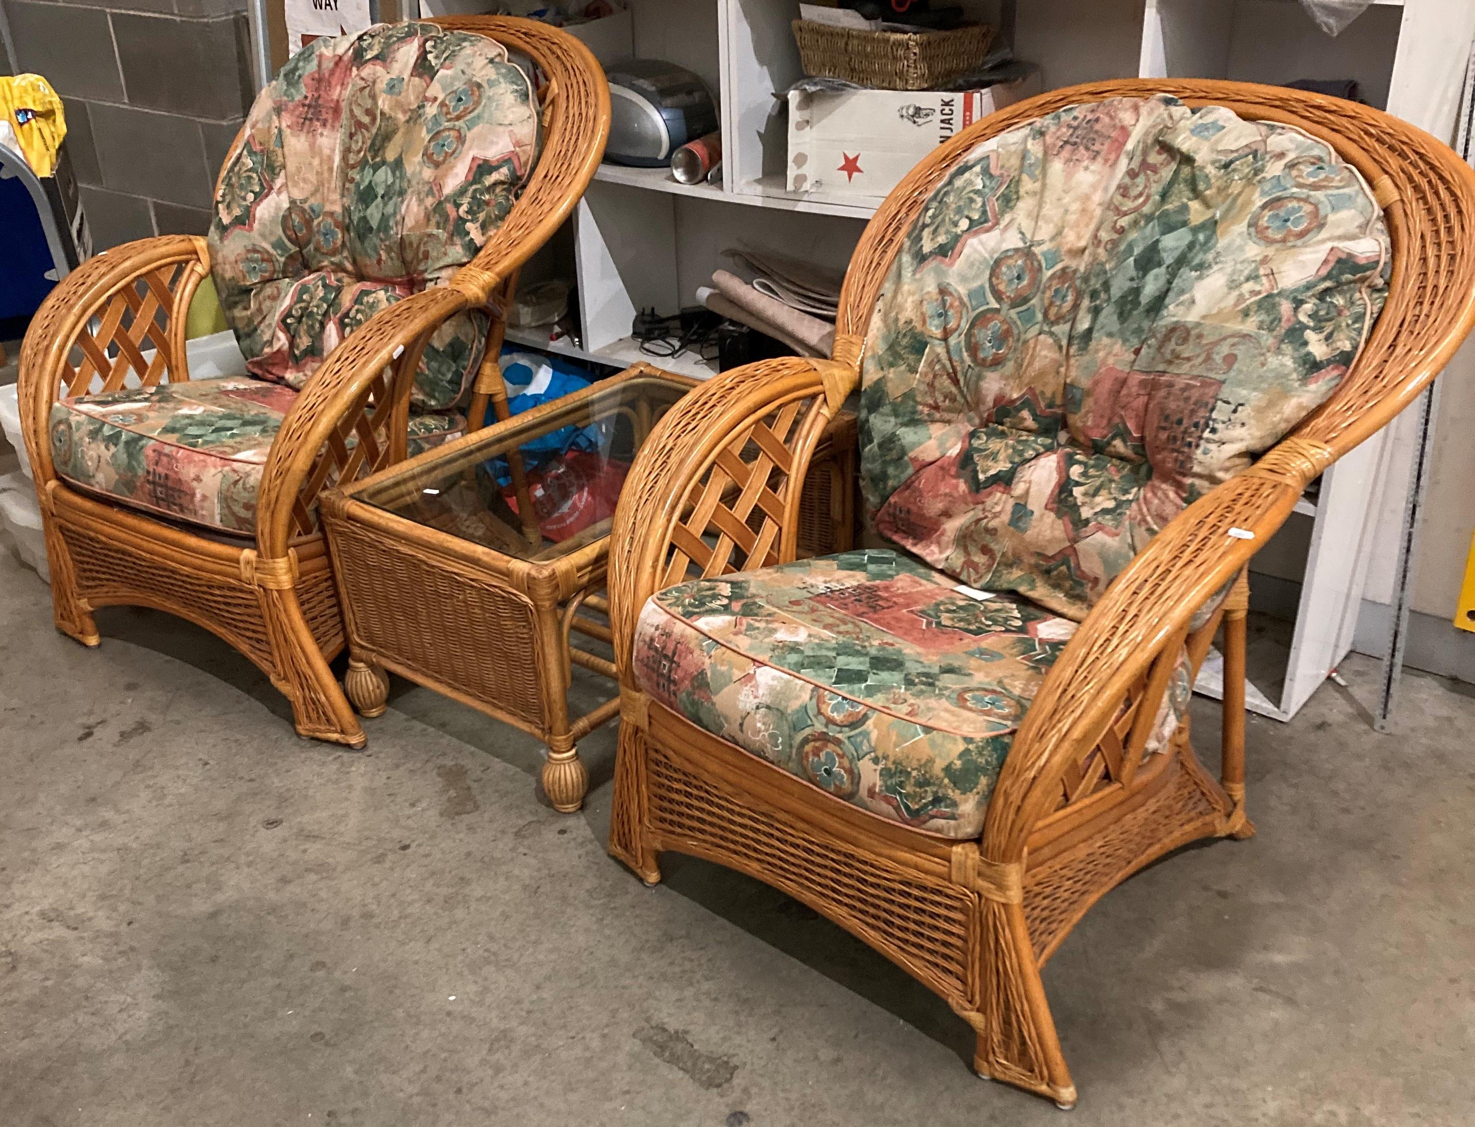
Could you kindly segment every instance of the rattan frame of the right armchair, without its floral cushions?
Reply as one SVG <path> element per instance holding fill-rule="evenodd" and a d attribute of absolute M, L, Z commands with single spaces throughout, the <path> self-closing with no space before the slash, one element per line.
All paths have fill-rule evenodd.
<path fill-rule="evenodd" d="M 794 568 L 804 566 L 789 561 L 810 453 L 827 419 L 863 382 L 863 369 L 870 370 L 872 311 L 886 299 L 888 270 L 934 193 L 987 139 L 1066 106 L 1090 109 L 1106 99 L 1158 93 L 1322 139 L 1356 167 L 1382 207 L 1384 246 L 1392 257 L 1386 301 L 1330 398 L 1251 468 L 1189 497 L 1192 503 L 1097 593 L 1032 692 L 981 828 L 968 836 L 929 832 L 944 823 L 919 829 L 856 801 L 836 801 L 841 788 L 829 782 L 848 769 L 829 751 L 796 777 L 799 771 L 777 757 L 770 761 L 739 746 L 736 736 L 720 738 L 712 723 L 673 707 L 673 695 L 689 684 L 692 665 L 683 662 L 711 661 L 733 645 L 727 624 L 752 621 L 743 615 L 755 600 L 733 609 L 739 583 L 724 587 L 712 577 L 743 572 L 748 590 L 760 581 L 771 587 L 766 577 L 795 575 Z M 1325 165 L 1305 170 L 1323 173 Z M 962 223 L 988 221 L 979 215 Z M 950 221 L 957 223 L 956 212 Z M 611 853 L 650 884 L 661 876 L 659 854 L 673 850 L 805 901 L 945 999 L 976 1031 L 981 1075 L 1071 1106 L 1075 1087 L 1041 969 L 1086 910 L 1133 872 L 1199 838 L 1254 832 L 1243 785 L 1246 564 L 1305 485 L 1409 406 L 1453 354 L 1475 319 L 1472 246 L 1475 174 L 1451 150 L 1378 111 L 1285 89 L 1218 81 L 1078 86 L 1015 105 L 938 148 L 891 193 L 856 251 L 833 360 L 771 360 L 712 379 L 665 417 L 630 474 L 611 544 L 622 686 Z M 940 307 L 940 316 L 945 313 Z M 863 447 L 875 440 L 875 426 L 866 438 L 866 415 L 878 407 L 866 381 Z M 788 571 L 768 571 L 776 565 Z M 637 642 L 645 645 L 643 631 L 650 630 L 643 615 L 661 606 L 652 596 L 698 575 L 705 581 L 681 587 L 681 597 L 698 615 L 733 618 L 701 627 L 712 639 L 705 651 L 698 645 L 643 661 L 646 649 Z M 813 603 L 830 589 L 814 583 L 807 590 L 820 593 Z M 705 608 L 704 597 L 712 599 Z M 785 621 L 807 624 L 816 614 Z M 1196 671 L 1220 630 L 1226 699 L 1223 766 L 1214 779 L 1192 751 L 1186 714 L 1162 754 L 1145 752 L 1171 684 L 1186 684 L 1183 662 Z M 723 684 L 739 683 L 730 667 L 723 673 Z M 662 679 L 671 692 L 662 692 Z M 717 676 L 708 680 L 718 683 Z M 811 677 L 816 683 L 823 693 L 841 682 L 826 667 L 825 676 Z M 760 690 L 733 698 L 732 711 L 740 714 L 735 724 L 743 732 L 758 711 Z M 820 724 L 816 717 L 826 711 L 826 720 L 836 720 L 829 730 L 838 732 L 847 715 L 832 711 L 854 710 L 854 699 L 816 696 L 810 720 Z M 774 721 L 755 735 L 782 742 L 788 736 L 780 727 Z"/>

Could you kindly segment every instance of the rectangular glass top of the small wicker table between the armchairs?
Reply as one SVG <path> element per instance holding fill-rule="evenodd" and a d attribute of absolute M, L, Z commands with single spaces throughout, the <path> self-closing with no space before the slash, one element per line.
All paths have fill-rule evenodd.
<path fill-rule="evenodd" d="M 558 559 L 609 535 L 636 453 L 690 388 L 614 376 L 407 462 L 354 497 L 518 559 Z"/>

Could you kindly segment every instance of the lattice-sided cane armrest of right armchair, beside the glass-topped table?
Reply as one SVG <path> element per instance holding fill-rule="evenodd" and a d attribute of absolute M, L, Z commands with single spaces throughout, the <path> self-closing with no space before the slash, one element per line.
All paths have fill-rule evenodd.
<path fill-rule="evenodd" d="M 609 537 L 621 677 L 636 618 L 655 592 L 689 569 L 711 577 L 738 571 L 739 559 L 794 559 L 810 456 L 858 379 L 856 364 L 833 360 L 760 360 L 714 376 L 665 413 L 625 478 Z"/>

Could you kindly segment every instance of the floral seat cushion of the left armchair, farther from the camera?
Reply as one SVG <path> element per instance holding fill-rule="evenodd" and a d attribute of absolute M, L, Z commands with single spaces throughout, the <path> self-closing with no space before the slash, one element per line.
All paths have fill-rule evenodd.
<path fill-rule="evenodd" d="M 52 406 L 52 460 L 74 485 L 220 533 L 257 531 L 257 491 L 296 391 L 261 379 L 199 379 L 78 395 Z M 410 417 L 410 453 L 466 426 Z"/>

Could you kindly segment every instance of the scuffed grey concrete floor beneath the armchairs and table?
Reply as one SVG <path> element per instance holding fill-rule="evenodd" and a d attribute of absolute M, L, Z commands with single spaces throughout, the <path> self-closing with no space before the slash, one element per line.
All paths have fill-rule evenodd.
<path fill-rule="evenodd" d="M 0 558 L 0 1124 L 1468 1124 L 1475 699 L 1406 679 L 1249 723 L 1243 844 L 1102 901 L 1046 969 L 1069 1120 L 963 1022 L 763 885 L 605 856 L 531 739 L 397 684 L 369 749 L 292 735 L 164 615 L 52 630 Z M 1345 673 L 1370 683 L 1372 662 Z M 1212 764 L 1217 705 L 1195 707 Z"/>

